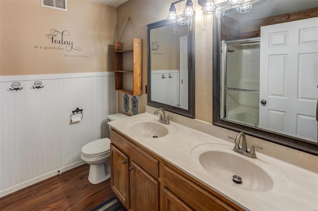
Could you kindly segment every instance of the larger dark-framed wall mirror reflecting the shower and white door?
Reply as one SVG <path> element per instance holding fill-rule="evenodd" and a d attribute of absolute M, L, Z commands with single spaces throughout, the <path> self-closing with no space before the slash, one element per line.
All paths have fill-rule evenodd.
<path fill-rule="evenodd" d="M 318 1 L 218 8 L 213 124 L 318 155 Z"/>

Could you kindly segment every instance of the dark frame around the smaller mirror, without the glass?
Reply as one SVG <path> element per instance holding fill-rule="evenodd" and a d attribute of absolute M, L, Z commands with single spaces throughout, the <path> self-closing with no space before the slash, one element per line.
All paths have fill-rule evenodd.
<path fill-rule="evenodd" d="M 151 100 L 151 44 L 150 31 L 151 29 L 166 26 L 170 24 L 166 19 L 147 25 L 147 104 L 157 108 L 163 108 L 182 116 L 194 118 L 194 19 L 188 21 L 188 109 L 175 107 L 172 105 L 160 103 Z"/>

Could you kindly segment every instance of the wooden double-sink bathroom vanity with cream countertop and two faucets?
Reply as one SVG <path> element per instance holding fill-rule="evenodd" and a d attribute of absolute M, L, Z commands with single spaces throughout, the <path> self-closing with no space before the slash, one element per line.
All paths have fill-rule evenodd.
<path fill-rule="evenodd" d="M 109 122 L 111 186 L 130 211 L 318 209 L 318 174 L 143 113 Z M 165 117 L 167 118 L 167 117 Z M 247 138 L 247 148 L 251 143 Z M 246 144 L 246 142 L 244 144 Z M 249 151 L 249 150 L 248 150 Z M 248 153 L 247 151 L 247 153 Z"/>

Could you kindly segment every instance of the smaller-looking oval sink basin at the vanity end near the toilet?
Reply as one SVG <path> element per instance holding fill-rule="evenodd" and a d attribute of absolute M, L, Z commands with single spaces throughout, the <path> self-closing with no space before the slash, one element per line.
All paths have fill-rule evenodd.
<path fill-rule="evenodd" d="M 164 125 L 159 123 L 158 120 L 151 118 L 135 119 L 129 125 L 131 125 L 131 130 L 137 136 L 146 138 L 161 138 L 169 133 L 176 133 L 176 127 L 173 124 Z"/>

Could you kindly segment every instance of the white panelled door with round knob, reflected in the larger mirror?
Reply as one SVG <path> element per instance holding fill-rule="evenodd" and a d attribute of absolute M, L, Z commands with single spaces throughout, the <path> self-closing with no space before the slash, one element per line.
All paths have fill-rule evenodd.
<path fill-rule="evenodd" d="M 317 142 L 318 18 L 263 26 L 260 37 L 259 127 Z"/>

